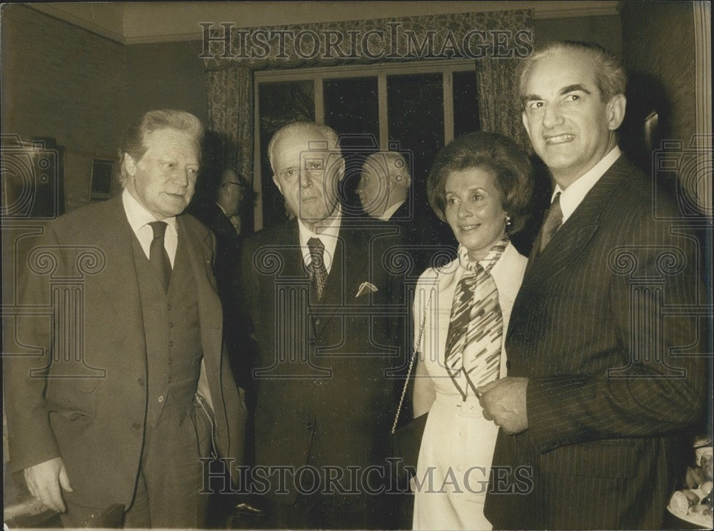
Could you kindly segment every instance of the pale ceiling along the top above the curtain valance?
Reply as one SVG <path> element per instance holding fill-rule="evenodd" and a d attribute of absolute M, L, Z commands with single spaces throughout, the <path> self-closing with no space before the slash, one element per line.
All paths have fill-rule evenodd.
<path fill-rule="evenodd" d="M 618 14 L 618 1 L 57 2 L 26 4 L 122 44 L 199 40 L 199 22 L 238 28 L 533 9 L 536 19 Z"/>

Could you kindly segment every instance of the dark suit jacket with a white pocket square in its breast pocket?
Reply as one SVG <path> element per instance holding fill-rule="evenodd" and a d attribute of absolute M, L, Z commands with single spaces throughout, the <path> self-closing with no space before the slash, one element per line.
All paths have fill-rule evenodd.
<path fill-rule="evenodd" d="M 403 383 L 391 369 L 403 369 L 408 345 L 403 286 L 383 265 L 395 233 L 380 221 L 343 218 L 321 303 L 308 301 L 296 220 L 246 241 L 242 278 L 259 347 L 257 465 L 346 472 L 384 464 Z M 358 296 L 363 283 L 376 291 Z M 290 476 L 286 487 L 278 501 L 291 503 Z M 278 486 L 270 488 L 273 495 Z"/>

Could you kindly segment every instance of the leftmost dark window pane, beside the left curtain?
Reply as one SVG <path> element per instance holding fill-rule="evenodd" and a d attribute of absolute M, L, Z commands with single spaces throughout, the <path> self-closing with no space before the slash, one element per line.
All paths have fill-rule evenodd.
<path fill-rule="evenodd" d="M 283 196 L 273 183 L 273 171 L 268 160 L 268 143 L 273 133 L 288 122 L 315 120 L 314 88 L 312 80 L 258 85 L 263 227 L 282 223 L 287 218 Z"/>

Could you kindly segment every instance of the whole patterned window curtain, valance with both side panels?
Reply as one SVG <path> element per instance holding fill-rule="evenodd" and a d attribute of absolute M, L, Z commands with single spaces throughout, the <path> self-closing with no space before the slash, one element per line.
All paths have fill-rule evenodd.
<path fill-rule="evenodd" d="M 203 39 L 208 128 L 221 138 L 222 155 L 246 176 L 253 175 L 256 69 L 475 59 L 481 128 L 530 145 L 515 103 L 513 72 L 517 58 L 533 51 L 531 10 L 248 29 L 206 24 Z"/>

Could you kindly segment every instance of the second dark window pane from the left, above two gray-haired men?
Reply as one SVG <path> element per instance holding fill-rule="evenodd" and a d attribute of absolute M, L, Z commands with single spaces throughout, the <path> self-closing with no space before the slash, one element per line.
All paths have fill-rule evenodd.
<path fill-rule="evenodd" d="M 379 150 L 377 78 L 326 79 L 323 83 L 325 123 L 341 137 L 345 177 L 340 197 L 347 211 L 358 211 L 355 190 L 364 157 Z"/>

